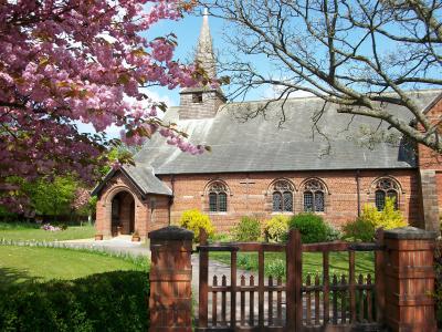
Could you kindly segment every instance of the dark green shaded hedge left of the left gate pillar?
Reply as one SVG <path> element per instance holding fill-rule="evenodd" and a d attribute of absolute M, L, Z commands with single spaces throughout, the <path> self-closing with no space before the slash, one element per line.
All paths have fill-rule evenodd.
<path fill-rule="evenodd" d="M 14 273 L 13 270 L 0 269 Z M 148 277 L 113 271 L 2 290 L 2 331 L 147 331 Z M 122 310 L 123 309 L 123 310 Z"/>

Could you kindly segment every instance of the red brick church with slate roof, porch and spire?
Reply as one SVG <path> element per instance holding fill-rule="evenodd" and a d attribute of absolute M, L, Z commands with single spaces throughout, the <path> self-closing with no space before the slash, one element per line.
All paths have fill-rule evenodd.
<path fill-rule="evenodd" d="M 197 61 L 215 75 L 207 17 Z M 441 116 L 441 91 L 410 94 L 422 112 Z M 177 224 L 188 209 L 208 214 L 219 231 L 229 231 L 244 215 L 271 218 L 302 211 L 339 226 L 354 220 L 367 203 L 382 208 L 387 196 L 396 197 L 409 224 L 439 230 L 440 156 L 404 143 L 369 148 L 358 137 L 379 121 L 337 114 L 337 105 L 324 105 L 317 97 L 271 103 L 265 116 L 250 116 L 265 102 L 227 104 L 220 89 L 181 91 L 180 106 L 170 107 L 165 120 L 212 152 L 193 156 L 154 135 L 135 156 L 135 167 L 112 170 L 94 189 L 97 234 L 113 236 L 119 226 L 123 234 L 146 237 Z M 323 135 L 313 136 L 318 112 Z"/>

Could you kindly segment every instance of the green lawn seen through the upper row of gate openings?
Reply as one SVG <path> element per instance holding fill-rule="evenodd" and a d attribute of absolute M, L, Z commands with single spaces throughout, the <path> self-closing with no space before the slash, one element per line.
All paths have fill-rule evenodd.
<path fill-rule="evenodd" d="M 229 252 L 210 252 L 210 259 L 230 264 Z M 356 252 L 356 273 L 371 273 L 373 277 L 375 255 L 372 252 Z M 243 270 L 257 271 L 257 253 L 239 252 L 238 267 Z M 305 252 L 303 255 L 303 276 L 322 273 L 323 256 L 316 252 Z M 333 276 L 336 273 L 348 274 L 348 253 L 332 252 L 329 257 L 329 271 Z M 266 276 L 285 276 L 285 253 L 266 252 L 264 256 L 264 272 Z"/>

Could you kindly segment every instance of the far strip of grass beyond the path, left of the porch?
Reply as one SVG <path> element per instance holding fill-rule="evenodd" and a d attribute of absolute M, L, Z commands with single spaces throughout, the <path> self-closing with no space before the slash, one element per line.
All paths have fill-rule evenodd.
<path fill-rule="evenodd" d="M 94 226 L 70 226 L 66 230 L 49 231 L 35 224 L 0 222 L 0 239 L 27 241 L 64 241 L 90 239 L 95 235 Z"/>

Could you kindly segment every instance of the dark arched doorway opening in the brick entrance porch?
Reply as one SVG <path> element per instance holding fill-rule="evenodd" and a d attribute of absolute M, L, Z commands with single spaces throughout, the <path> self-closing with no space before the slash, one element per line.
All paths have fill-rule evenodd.
<path fill-rule="evenodd" d="M 130 193 L 119 191 L 112 199 L 110 231 L 115 237 L 135 231 L 135 200 Z"/>

